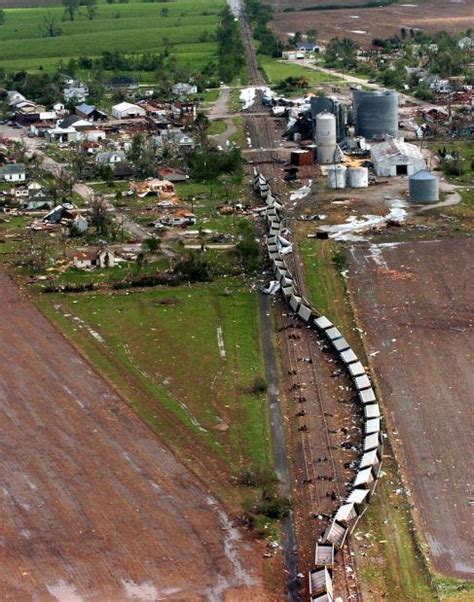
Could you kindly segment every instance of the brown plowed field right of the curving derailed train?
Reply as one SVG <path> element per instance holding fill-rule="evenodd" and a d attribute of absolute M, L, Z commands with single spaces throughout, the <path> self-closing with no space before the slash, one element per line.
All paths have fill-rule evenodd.
<path fill-rule="evenodd" d="M 349 286 L 435 568 L 473 578 L 472 239 L 353 247 Z"/>

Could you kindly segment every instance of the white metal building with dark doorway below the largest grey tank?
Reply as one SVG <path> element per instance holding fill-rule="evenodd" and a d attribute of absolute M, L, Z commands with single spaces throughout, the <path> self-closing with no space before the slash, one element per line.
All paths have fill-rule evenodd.
<path fill-rule="evenodd" d="M 426 169 L 418 148 L 402 139 L 389 137 L 385 142 L 373 144 L 370 154 L 378 176 L 411 176 Z"/>

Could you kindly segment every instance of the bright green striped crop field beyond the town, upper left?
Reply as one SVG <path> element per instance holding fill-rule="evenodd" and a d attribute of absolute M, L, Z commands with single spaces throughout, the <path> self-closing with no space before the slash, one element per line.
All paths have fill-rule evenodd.
<path fill-rule="evenodd" d="M 200 67 L 214 56 L 212 41 L 225 0 L 132 1 L 106 4 L 99 0 L 96 17 L 81 8 L 74 21 L 63 20 L 62 6 L 5 9 L 0 26 L 0 68 L 54 69 L 60 60 L 97 56 L 101 52 L 158 52 L 166 43 L 179 66 Z M 163 10 L 167 13 L 164 15 Z M 43 21 L 50 13 L 61 35 L 45 37 Z M 203 34 L 207 32 L 207 40 Z"/>

